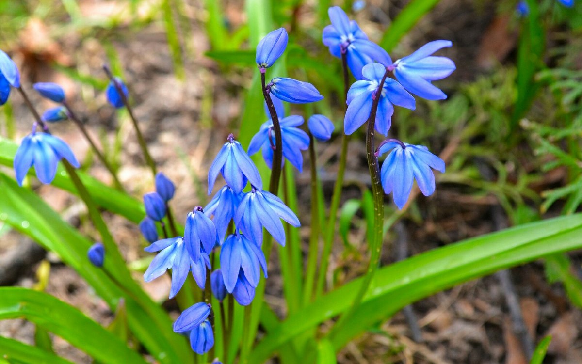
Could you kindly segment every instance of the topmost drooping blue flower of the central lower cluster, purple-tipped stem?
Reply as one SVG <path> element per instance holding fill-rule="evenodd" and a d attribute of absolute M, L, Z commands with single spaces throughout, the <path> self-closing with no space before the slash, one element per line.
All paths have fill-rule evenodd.
<path fill-rule="evenodd" d="M 237 194 L 243 191 L 247 180 L 254 187 L 262 189 L 261 175 L 258 173 L 253 160 L 244 152 L 243 147 L 235 140 L 232 134 L 218 152 L 210 170 L 208 170 L 208 194 L 212 192 L 218 173 L 222 173 L 226 184 Z"/>

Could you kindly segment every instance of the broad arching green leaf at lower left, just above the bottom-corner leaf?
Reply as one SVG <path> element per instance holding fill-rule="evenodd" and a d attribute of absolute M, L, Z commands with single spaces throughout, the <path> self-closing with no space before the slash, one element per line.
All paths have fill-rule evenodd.
<path fill-rule="evenodd" d="M 0 295 L 0 319 L 23 317 L 104 363 L 145 363 L 139 354 L 100 324 L 49 294 L 1 287 Z"/>

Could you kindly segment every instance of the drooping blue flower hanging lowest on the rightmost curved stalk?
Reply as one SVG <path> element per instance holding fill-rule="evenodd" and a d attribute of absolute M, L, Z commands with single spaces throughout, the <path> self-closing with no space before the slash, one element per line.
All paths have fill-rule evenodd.
<path fill-rule="evenodd" d="M 430 196 L 435 191 L 435 176 L 431 168 L 445 173 L 445 162 L 441 158 L 423 145 L 411 145 L 395 139 L 382 142 L 376 155 L 388 151 L 391 152 L 382 163 L 380 178 L 384 192 L 393 192 L 399 209 L 406 205 L 414 179 L 423 195 Z"/>

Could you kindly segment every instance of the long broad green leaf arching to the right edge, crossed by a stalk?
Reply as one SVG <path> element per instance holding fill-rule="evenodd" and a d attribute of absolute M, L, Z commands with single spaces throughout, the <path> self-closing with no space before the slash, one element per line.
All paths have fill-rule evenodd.
<path fill-rule="evenodd" d="M 372 324 L 436 292 L 496 270 L 582 247 L 582 215 L 556 217 L 433 249 L 382 267 L 357 312 L 331 342 L 336 351 Z M 289 316 L 259 342 L 250 362 L 260 363 L 281 345 L 349 308 L 362 279 L 350 281 Z"/>

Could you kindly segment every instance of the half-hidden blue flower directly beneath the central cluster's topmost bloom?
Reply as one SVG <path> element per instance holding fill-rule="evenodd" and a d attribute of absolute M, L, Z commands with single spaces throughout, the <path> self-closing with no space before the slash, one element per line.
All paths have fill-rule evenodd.
<path fill-rule="evenodd" d="M 208 205 L 204 207 L 204 212 L 208 216 L 214 216 L 212 222 L 217 229 L 218 241 L 223 241 L 226 229 L 230 221 L 234 219 L 236 209 L 239 207 L 243 193 L 235 193 L 232 188 L 225 185 L 212 197 Z"/>

